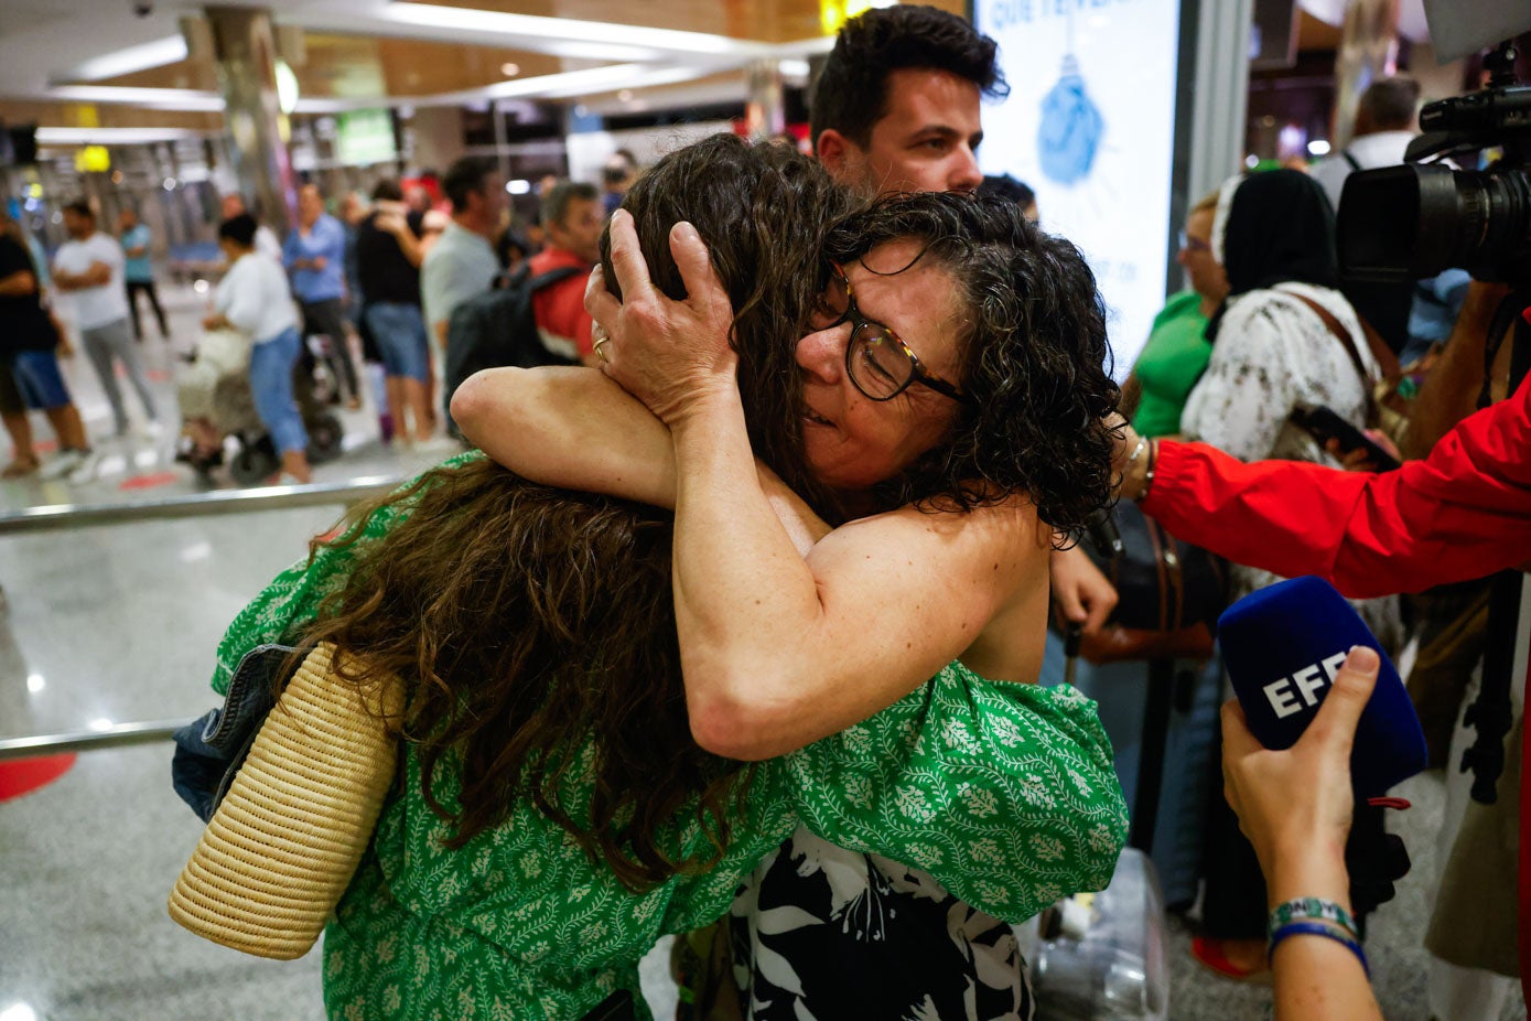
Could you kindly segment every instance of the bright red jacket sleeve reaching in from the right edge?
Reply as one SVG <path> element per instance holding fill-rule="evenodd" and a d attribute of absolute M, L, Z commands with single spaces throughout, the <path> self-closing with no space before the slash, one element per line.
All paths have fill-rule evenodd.
<path fill-rule="evenodd" d="M 1531 378 L 1382 475 L 1167 441 L 1142 507 L 1236 563 L 1317 574 L 1358 599 L 1519 566 L 1531 560 Z"/>

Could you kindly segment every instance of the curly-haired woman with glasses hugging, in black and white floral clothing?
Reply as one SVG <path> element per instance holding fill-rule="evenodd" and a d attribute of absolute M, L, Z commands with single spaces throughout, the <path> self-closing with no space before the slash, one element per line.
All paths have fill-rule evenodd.
<path fill-rule="evenodd" d="M 782 525 L 758 479 L 709 251 L 686 225 L 668 246 L 684 300 L 652 286 L 619 213 L 612 271 L 586 298 L 608 331 L 605 370 L 631 393 L 588 372 L 496 370 L 459 390 L 453 418 L 530 478 L 675 508 L 697 739 L 732 758 L 788 753 L 951 660 L 1035 681 L 1052 536 L 1076 534 L 1098 504 L 1092 416 L 1115 398 L 1073 246 L 1010 204 L 958 194 L 885 199 L 828 231 L 825 265 L 799 268 L 822 292 L 781 386 L 801 389 L 808 470 L 850 520 L 807 533 Z M 1058 793 L 1038 784 L 1035 807 Z M 1015 836 L 995 827 L 992 840 Z M 746 883 L 733 963 L 749 1016 L 1030 1016 L 998 920 L 1021 915 L 977 911 L 919 863 L 868 851 L 799 828 Z M 1027 868 L 1053 854 L 1030 842 Z"/>

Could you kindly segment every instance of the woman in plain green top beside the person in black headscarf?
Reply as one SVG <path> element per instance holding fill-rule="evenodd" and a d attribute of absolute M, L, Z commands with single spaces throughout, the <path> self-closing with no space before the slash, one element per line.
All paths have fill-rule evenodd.
<path fill-rule="evenodd" d="M 1228 297 L 1228 276 L 1211 246 L 1216 214 L 1217 191 L 1213 191 L 1185 217 L 1176 262 L 1191 289 L 1171 297 L 1154 317 L 1148 343 L 1122 386 L 1122 413 L 1144 436 L 1179 435 L 1185 398 L 1213 357 L 1206 321 Z"/>

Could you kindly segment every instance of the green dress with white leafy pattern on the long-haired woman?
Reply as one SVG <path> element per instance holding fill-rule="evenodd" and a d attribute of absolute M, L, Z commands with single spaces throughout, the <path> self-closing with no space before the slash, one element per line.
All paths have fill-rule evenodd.
<path fill-rule="evenodd" d="M 473 456 L 473 455 L 470 455 Z M 375 514 L 363 542 L 401 513 Z M 213 687 L 265 641 L 289 638 L 349 569 L 323 550 L 280 574 L 219 644 Z M 406 784 L 383 808 L 361 866 L 325 931 L 331 1018 L 574 1021 L 619 989 L 638 1016 L 638 958 L 668 932 L 724 915 L 741 880 L 802 824 L 845 848 L 923 868 L 1000 918 L 1099 889 L 1127 834 L 1127 808 L 1095 703 L 1072 687 L 986 681 L 952 663 L 870 719 L 762 762 L 727 853 L 701 876 L 635 894 L 524 804 L 456 851 Z M 588 804 L 594 747 L 565 804 Z M 439 775 L 438 775 L 439 776 Z M 456 790 L 439 776 L 438 796 Z M 658 834 L 686 857 L 706 845 L 687 808 Z"/>

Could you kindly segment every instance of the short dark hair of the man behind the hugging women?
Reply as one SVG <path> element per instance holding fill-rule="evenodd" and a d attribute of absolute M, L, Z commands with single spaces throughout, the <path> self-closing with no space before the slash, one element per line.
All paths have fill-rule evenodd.
<path fill-rule="evenodd" d="M 873 8 L 848 20 L 813 86 L 808 132 L 834 129 L 862 148 L 888 112 L 888 73 L 902 69 L 945 70 L 978 86 L 991 99 L 1009 95 L 995 60 L 997 44 L 972 24 L 939 8 Z"/>

